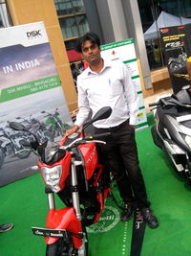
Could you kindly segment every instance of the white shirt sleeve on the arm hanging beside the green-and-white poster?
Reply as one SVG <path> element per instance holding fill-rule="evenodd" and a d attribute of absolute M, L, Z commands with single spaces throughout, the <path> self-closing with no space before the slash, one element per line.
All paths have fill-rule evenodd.
<path fill-rule="evenodd" d="M 125 64 L 122 63 L 122 83 L 124 86 L 124 94 L 129 107 L 129 124 L 132 126 L 136 125 L 138 118 L 138 93 L 133 84 L 129 71 Z"/>

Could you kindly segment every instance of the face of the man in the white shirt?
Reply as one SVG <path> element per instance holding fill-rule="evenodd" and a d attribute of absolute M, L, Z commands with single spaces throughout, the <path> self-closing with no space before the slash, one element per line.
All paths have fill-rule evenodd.
<path fill-rule="evenodd" d="M 82 56 L 91 65 L 101 60 L 100 48 L 90 40 L 86 40 L 82 47 Z"/>

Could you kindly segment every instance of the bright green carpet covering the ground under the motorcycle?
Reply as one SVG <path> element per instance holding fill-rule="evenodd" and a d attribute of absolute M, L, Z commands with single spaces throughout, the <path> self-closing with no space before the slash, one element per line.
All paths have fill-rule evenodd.
<path fill-rule="evenodd" d="M 159 218 L 158 229 L 146 227 L 141 256 L 190 256 L 191 191 L 153 144 L 150 128 L 139 130 L 137 141 L 148 197 Z M 48 209 L 41 176 L 32 175 L 2 187 L 0 198 L 0 223 L 14 223 L 11 231 L 0 234 L 0 255 L 45 255 L 43 238 L 33 236 L 31 230 L 31 226 L 45 225 Z M 62 207 L 59 199 L 56 205 Z M 96 230 L 89 228 L 90 256 L 130 255 L 133 221 L 122 223 L 118 217 L 119 210 L 108 199 L 102 222 L 97 223 Z"/>

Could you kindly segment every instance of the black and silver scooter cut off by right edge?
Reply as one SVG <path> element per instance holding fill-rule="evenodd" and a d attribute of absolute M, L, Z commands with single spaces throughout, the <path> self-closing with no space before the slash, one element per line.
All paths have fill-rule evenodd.
<path fill-rule="evenodd" d="M 156 124 L 154 143 L 169 155 L 177 173 L 191 185 L 191 91 L 180 90 L 150 104 Z"/>

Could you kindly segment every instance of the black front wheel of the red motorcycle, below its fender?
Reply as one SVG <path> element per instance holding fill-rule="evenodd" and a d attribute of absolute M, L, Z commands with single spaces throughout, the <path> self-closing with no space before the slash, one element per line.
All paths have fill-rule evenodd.
<path fill-rule="evenodd" d="M 46 256 L 88 256 L 88 237 L 85 227 L 83 228 L 82 245 L 74 249 L 72 239 L 65 241 L 59 239 L 54 244 L 47 244 Z"/>

